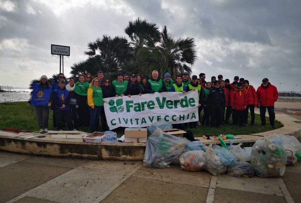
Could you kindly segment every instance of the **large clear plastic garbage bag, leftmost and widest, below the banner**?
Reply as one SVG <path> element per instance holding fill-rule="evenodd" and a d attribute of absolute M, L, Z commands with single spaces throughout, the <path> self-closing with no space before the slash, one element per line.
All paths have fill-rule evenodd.
<path fill-rule="evenodd" d="M 179 157 L 185 152 L 188 140 L 176 137 L 157 128 L 147 138 L 143 166 L 150 168 L 167 168 L 172 162 L 178 162 Z"/>

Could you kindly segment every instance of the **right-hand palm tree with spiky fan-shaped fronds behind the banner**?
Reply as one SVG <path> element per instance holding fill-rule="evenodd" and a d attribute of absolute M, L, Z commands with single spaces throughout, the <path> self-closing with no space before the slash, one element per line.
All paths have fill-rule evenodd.
<path fill-rule="evenodd" d="M 191 74 L 191 66 L 197 59 L 195 40 L 191 37 L 176 39 L 164 26 L 160 42 L 140 48 L 137 59 L 145 75 L 150 75 L 154 69 L 161 76 L 169 72 L 173 79 L 183 72 Z"/>

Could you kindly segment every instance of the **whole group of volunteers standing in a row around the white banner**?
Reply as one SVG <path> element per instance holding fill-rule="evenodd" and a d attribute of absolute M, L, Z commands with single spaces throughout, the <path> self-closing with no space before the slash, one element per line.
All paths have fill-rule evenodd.
<path fill-rule="evenodd" d="M 100 117 L 102 130 L 107 131 L 104 98 L 197 91 L 199 122 L 191 122 L 191 128 L 195 128 L 197 123 L 212 127 L 228 124 L 231 114 L 233 125 L 248 125 L 249 110 L 250 125 L 253 126 L 256 106 L 260 108 L 261 125 L 266 125 L 265 112 L 268 109 L 270 125 L 275 128 L 274 102 L 278 99 L 278 91 L 267 78 L 262 80 L 257 91 L 248 80 L 238 76 L 234 77 L 232 83 L 229 79 L 223 80 L 222 75 L 218 79 L 212 76 L 211 82 L 205 79 L 204 73 L 190 78 L 188 72 L 183 72 L 173 81 L 168 72 L 164 78 L 160 78 L 158 71 L 154 70 L 150 78 L 119 72 L 116 80 L 110 81 L 105 78 L 104 72 L 99 71 L 95 78 L 88 73 L 69 80 L 60 73 L 50 85 L 47 76 L 42 75 L 39 83 L 31 84 L 32 92 L 27 105 L 35 106 L 41 131 L 48 130 L 49 109 L 53 109 L 53 126 L 58 130 L 67 125 L 68 130 L 90 126 L 92 132 L 98 131 Z M 204 113 L 201 119 L 202 110 Z"/>

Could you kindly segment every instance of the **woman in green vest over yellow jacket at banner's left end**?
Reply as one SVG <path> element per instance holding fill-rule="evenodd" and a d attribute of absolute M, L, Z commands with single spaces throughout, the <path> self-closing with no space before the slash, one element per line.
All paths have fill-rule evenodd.
<path fill-rule="evenodd" d="M 100 79 L 94 78 L 91 87 L 88 88 L 88 106 L 90 111 L 90 127 L 92 132 L 98 131 L 101 106 L 104 105 Z"/>

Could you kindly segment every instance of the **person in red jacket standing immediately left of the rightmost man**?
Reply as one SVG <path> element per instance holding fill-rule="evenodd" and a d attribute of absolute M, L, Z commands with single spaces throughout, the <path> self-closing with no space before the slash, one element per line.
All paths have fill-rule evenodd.
<path fill-rule="evenodd" d="M 248 106 L 246 109 L 244 109 L 244 125 L 248 125 L 248 114 L 249 114 L 249 109 L 251 113 L 251 126 L 254 126 L 255 122 L 255 112 L 254 108 L 257 106 L 258 100 L 257 100 L 257 94 L 255 88 L 250 85 L 248 80 L 244 81 L 244 91 L 247 94 L 248 97 Z"/>

